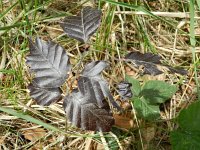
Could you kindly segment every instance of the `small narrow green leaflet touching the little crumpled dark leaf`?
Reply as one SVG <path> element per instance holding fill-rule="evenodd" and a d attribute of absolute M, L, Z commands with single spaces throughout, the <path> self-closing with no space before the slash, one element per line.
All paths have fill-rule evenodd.
<path fill-rule="evenodd" d="M 128 81 L 129 83 L 132 84 L 131 91 L 133 93 L 133 96 L 138 96 L 141 91 L 140 82 L 130 76 L 127 76 L 127 75 L 126 75 L 125 79 L 126 79 L 126 81 Z"/>

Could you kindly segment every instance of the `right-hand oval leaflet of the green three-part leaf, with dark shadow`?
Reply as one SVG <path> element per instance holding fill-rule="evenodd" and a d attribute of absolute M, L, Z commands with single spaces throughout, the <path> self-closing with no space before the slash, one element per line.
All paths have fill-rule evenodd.
<path fill-rule="evenodd" d="M 160 104 L 171 98 L 177 91 L 177 87 L 164 81 L 148 81 L 142 88 L 140 96 L 143 96 L 149 104 Z"/>

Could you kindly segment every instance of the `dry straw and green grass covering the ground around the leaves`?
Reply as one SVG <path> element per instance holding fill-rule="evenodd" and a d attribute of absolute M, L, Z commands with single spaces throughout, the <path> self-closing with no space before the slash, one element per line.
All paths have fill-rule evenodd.
<path fill-rule="evenodd" d="M 65 3 L 69 9 L 60 8 L 59 3 Z M 199 1 L 100 0 L 96 5 L 103 13 L 101 27 L 91 38 L 89 51 L 83 52 L 84 55 L 84 45 L 65 36 L 58 25 L 60 19 L 76 14 L 89 2 L 74 3 L 76 7 L 70 6 L 71 1 L 62 0 L 0 0 L 0 148 L 169 149 L 169 132 L 175 128 L 173 119 L 197 96 L 200 98 L 200 26 L 196 18 L 196 12 L 200 10 Z M 165 12 L 164 17 L 160 15 L 162 12 Z M 186 19 L 174 17 L 172 12 L 190 12 L 190 16 Z M 113 127 L 112 132 L 103 135 L 68 127 L 62 102 L 43 108 L 29 97 L 27 85 L 31 76 L 25 64 L 29 51 L 27 37 L 35 38 L 37 35 L 44 40 L 51 38 L 65 47 L 77 72 L 91 60 L 109 61 L 110 69 L 103 75 L 120 103 L 123 102 L 116 94 L 114 84 L 122 81 L 125 74 L 140 81 L 165 80 L 178 84 L 180 90 L 162 106 L 159 123 L 144 122 L 134 114 L 131 119 L 135 125 L 131 129 Z M 166 64 L 183 67 L 189 73 L 183 77 L 168 73 L 156 77 L 140 76 L 139 70 L 121 61 L 116 62 L 135 50 L 157 53 Z M 67 83 L 76 78 L 69 78 Z M 75 86 L 73 82 L 62 88 L 66 91 Z M 37 140 L 25 136 L 25 131 L 31 133 L 41 128 L 44 129 L 42 137 L 33 135 Z M 149 129 L 152 132 L 148 132 Z"/>

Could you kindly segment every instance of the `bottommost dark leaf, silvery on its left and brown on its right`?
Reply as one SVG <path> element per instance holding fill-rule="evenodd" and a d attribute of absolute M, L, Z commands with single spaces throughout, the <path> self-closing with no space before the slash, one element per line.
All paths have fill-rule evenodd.
<path fill-rule="evenodd" d="M 99 108 L 90 91 L 82 95 L 74 90 L 64 99 L 63 107 L 68 120 L 76 127 L 83 130 L 110 131 L 114 124 L 114 118 L 108 107 Z"/>

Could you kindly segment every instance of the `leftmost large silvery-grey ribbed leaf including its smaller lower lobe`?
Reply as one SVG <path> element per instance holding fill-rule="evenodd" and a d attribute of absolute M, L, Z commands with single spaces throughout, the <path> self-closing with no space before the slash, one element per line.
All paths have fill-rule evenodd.
<path fill-rule="evenodd" d="M 69 57 L 60 45 L 52 41 L 42 41 L 38 37 L 35 43 L 29 39 L 29 49 L 26 63 L 34 74 L 29 85 L 30 96 L 39 105 L 57 102 L 62 94 L 59 87 L 66 81 L 71 68 Z"/>

